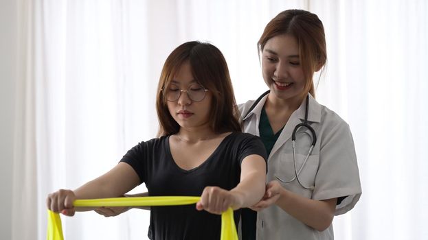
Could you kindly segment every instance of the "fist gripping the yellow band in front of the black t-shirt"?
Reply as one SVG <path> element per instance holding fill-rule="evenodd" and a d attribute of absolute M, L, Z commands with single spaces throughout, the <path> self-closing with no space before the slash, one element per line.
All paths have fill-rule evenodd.
<path fill-rule="evenodd" d="M 201 200 L 196 203 L 196 209 L 221 215 L 227 208 L 232 207 L 235 210 L 240 208 L 241 205 L 242 201 L 231 191 L 221 189 L 220 187 L 205 187 L 201 195 Z"/>

